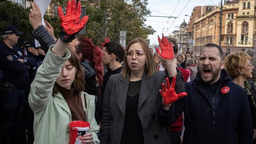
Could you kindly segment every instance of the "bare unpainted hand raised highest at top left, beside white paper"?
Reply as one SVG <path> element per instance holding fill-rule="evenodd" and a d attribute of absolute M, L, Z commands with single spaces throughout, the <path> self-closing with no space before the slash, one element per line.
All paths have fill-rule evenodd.
<path fill-rule="evenodd" d="M 32 8 L 30 9 L 29 21 L 33 29 L 35 29 L 42 25 L 42 15 L 36 2 L 30 2 L 30 4 Z"/>

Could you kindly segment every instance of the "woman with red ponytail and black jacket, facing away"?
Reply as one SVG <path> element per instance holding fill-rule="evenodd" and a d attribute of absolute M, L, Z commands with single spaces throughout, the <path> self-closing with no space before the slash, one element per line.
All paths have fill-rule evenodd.
<path fill-rule="evenodd" d="M 86 81 L 84 91 L 90 95 L 97 95 L 96 76 L 100 85 L 103 81 L 103 54 L 101 49 L 86 37 L 74 39 L 69 43 L 69 47 L 76 53 L 80 65 L 84 69 Z"/>

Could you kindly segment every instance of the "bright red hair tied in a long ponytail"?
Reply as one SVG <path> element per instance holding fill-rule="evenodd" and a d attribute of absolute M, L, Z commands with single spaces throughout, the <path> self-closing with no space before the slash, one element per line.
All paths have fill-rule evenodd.
<path fill-rule="evenodd" d="M 76 53 L 82 53 L 81 60 L 94 62 L 94 69 L 97 73 L 98 82 L 102 85 L 103 81 L 103 53 L 98 46 L 86 37 L 78 37 L 76 42 Z"/>

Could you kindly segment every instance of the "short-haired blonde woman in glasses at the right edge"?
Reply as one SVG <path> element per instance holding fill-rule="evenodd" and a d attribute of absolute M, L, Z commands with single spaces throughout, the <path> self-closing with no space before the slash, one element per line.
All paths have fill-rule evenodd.
<path fill-rule="evenodd" d="M 225 58 L 225 69 L 234 83 L 240 85 L 247 91 L 248 102 L 251 109 L 251 118 L 253 123 L 253 139 L 256 144 L 256 89 L 254 83 L 247 81 L 252 78 L 252 63 L 250 56 L 243 51 L 234 52 Z"/>

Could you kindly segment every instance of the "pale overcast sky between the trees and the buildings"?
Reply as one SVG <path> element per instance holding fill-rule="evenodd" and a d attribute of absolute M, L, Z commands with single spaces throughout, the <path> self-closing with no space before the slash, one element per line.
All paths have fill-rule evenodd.
<path fill-rule="evenodd" d="M 224 0 L 223 4 L 224 4 Z M 151 11 L 152 16 L 172 16 L 178 17 L 168 18 L 168 17 L 146 17 L 146 25 L 150 25 L 156 31 L 155 34 L 149 35 L 151 44 L 158 44 L 158 35 L 161 36 L 162 33 L 167 36 L 174 30 L 178 30 L 180 24 L 184 21 L 188 23 L 190 17 L 185 15 L 191 15 L 191 12 L 196 6 L 205 5 L 219 5 L 220 0 L 148 0 L 147 8 Z M 176 7 L 176 9 L 175 9 Z M 167 23 L 168 21 L 168 23 Z"/>

